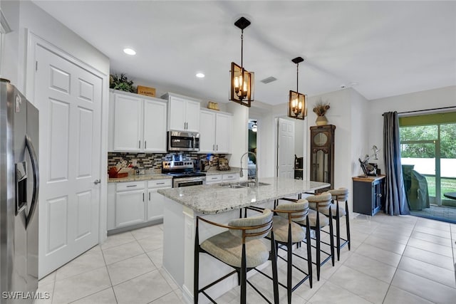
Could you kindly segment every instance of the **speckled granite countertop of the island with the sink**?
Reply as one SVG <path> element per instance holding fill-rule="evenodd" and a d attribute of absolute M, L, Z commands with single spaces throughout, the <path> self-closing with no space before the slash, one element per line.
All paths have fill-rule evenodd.
<path fill-rule="evenodd" d="M 219 214 L 330 186 L 330 184 L 322 182 L 276 177 L 260 179 L 259 181 L 269 185 L 258 188 L 232 189 L 220 184 L 210 184 L 160 189 L 157 192 L 199 213 Z"/>

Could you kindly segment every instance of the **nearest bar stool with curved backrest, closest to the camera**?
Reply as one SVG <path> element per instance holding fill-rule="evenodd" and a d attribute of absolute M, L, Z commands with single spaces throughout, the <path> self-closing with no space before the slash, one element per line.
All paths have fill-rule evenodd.
<path fill-rule="evenodd" d="M 239 303 L 247 303 L 247 272 L 257 266 L 271 260 L 274 303 L 279 303 L 279 288 L 277 285 L 277 263 L 274 243 L 274 231 L 272 226 L 272 212 L 264 209 L 259 216 L 252 216 L 242 219 L 233 219 L 227 225 L 214 223 L 207 219 L 197 216 L 195 231 L 195 255 L 194 255 L 194 282 L 193 297 L 195 303 L 198 303 L 199 293 L 204 294 L 212 303 L 216 303 L 205 290 L 213 285 L 223 281 L 225 278 L 237 273 L 241 285 L 241 295 Z M 228 229 L 220 234 L 216 234 L 199 244 L 199 221 L 212 226 Z M 268 246 L 261 241 L 265 236 L 270 236 L 271 251 Z M 199 288 L 199 253 L 207 253 L 209 256 L 216 258 L 222 263 L 234 268 L 234 271 L 228 273 L 222 278 L 209 283 L 203 288 Z M 252 287 L 254 287 L 252 285 Z M 257 288 L 254 288 L 259 293 Z M 267 298 L 259 293 L 267 303 L 271 303 Z"/>

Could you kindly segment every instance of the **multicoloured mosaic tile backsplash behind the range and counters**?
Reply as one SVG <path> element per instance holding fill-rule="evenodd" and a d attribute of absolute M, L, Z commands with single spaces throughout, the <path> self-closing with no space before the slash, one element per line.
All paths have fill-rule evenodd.
<path fill-rule="evenodd" d="M 197 153 L 124 153 L 124 152 L 108 152 L 108 170 L 115 166 L 120 161 L 126 160 L 128 164 L 133 164 L 135 169 L 154 169 L 160 172 L 162 162 L 165 160 L 173 160 L 175 157 L 182 157 L 182 160 L 191 159 L 207 159 L 212 156 L 212 166 L 217 166 L 219 157 L 226 157 L 225 154 L 197 154 Z"/>

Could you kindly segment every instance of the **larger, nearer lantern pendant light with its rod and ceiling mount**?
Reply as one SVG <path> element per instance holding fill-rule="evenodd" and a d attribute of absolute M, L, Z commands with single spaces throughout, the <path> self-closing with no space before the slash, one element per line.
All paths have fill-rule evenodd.
<path fill-rule="evenodd" d="M 241 28 L 241 65 L 231 63 L 229 100 L 250 108 L 250 103 L 254 100 L 254 73 L 244 69 L 243 61 L 244 28 L 250 25 L 250 21 L 241 17 L 234 25 Z"/>

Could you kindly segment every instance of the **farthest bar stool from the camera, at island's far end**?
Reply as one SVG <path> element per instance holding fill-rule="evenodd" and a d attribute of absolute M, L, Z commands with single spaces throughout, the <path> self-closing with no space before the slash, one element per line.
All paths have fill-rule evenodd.
<path fill-rule="evenodd" d="M 337 261 L 341 256 L 341 248 L 348 244 L 348 250 L 350 250 L 350 216 L 348 216 L 348 189 L 347 188 L 338 188 L 332 189 L 328 191 L 331 193 L 331 199 L 336 201 L 336 204 L 332 204 L 335 206 L 336 214 L 332 212 L 333 219 L 336 219 L 336 242 L 337 242 Z M 345 209 L 343 207 L 339 207 L 339 201 L 345 201 Z M 345 216 L 346 221 L 346 230 L 347 230 L 347 239 L 343 239 L 341 237 L 341 224 L 340 219 L 342 216 Z M 341 241 L 343 241 L 341 243 Z"/>

